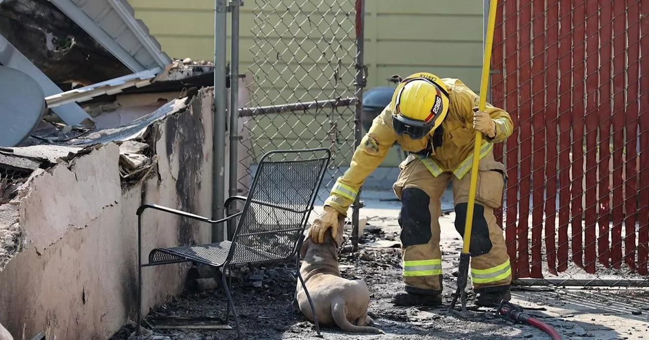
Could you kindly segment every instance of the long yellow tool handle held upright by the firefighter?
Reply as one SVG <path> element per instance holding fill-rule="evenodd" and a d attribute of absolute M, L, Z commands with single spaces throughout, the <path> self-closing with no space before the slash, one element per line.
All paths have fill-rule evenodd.
<path fill-rule="evenodd" d="M 493 45 L 493 30 L 496 25 L 497 0 L 489 1 L 489 19 L 487 20 L 487 37 L 485 40 L 485 55 L 482 61 L 482 79 L 480 80 L 480 101 L 478 109 L 484 111 L 487 106 L 487 85 L 489 84 L 489 67 L 491 62 L 491 46 Z M 464 224 L 464 244 L 462 253 L 469 253 L 471 245 L 471 228 L 473 226 L 473 208 L 476 204 L 476 187 L 478 186 L 478 163 L 480 162 L 480 146 L 482 132 L 476 131 L 476 143 L 473 146 L 473 162 L 471 163 L 471 183 L 469 185 L 469 203 L 467 204 L 467 219 Z"/>

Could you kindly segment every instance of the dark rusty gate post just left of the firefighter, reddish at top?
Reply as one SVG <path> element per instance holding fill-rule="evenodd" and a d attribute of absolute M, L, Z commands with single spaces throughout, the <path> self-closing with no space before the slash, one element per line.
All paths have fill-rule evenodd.
<path fill-rule="evenodd" d="M 354 111 L 354 151 L 361 143 L 363 128 L 363 88 L 365 87 L 365 64 L 363 47 L 365 46 L 365 0 L 356 0 L 356 108 Z M 352 204 L 352 250 L 358 251 L 358 227 L 361 209 L 361 188 Z"/>

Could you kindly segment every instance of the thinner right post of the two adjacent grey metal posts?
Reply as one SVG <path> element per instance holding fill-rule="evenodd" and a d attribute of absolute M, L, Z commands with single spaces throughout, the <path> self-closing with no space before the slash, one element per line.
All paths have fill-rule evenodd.
<path fill-rule="evenodd" d="M 228 185 L 229 196 L 238 194 L 238 148 L 239 148 L 239 5 L 232 6 L 230 14 L 231 28 L 231 49 L 230 49 L 230 181 Z M 236 201 L 228 205 L 228 216 L 236 214 Z M 236 220 L 228 221 L 228 240 L 234 234 Z"/>

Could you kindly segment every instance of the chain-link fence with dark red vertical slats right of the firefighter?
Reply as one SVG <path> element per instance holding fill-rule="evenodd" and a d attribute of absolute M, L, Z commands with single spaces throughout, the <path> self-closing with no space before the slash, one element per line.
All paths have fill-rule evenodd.
<path fill-rule="evenodd" d="M 649 286 L 648 15 L 646 0 L 499 3 L 492 98 L 515 126 L 496 149 L 499 218 L 519 283 Z"/>

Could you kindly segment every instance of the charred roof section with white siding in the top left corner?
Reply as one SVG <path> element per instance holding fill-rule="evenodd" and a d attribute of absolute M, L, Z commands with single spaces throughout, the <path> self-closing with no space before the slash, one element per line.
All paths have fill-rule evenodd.
<path fill-rule="evenodd" d="M 67 89 L 171 63 L 123 0 L 4 0 L 0 34 Z"/>

